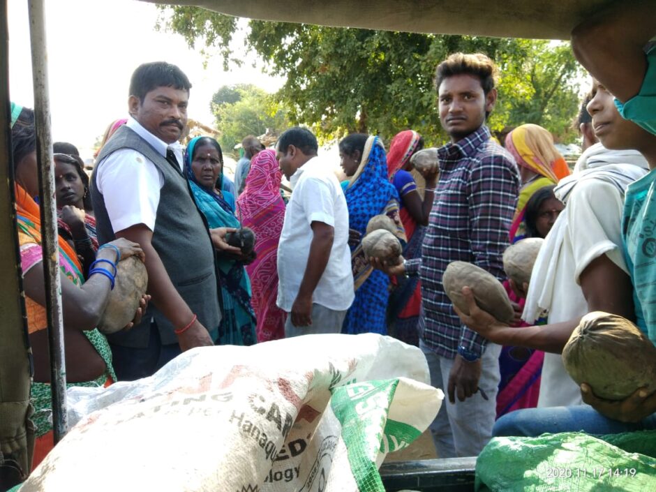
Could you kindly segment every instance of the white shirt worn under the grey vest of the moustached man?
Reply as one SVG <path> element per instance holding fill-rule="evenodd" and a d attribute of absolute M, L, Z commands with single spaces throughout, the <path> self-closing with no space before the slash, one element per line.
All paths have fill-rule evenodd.
<path fill-rule="evenodd" d="M 168 148 L 172 149 L 180 170 L 184 170 L 184 147 L 181 144 L 163 142 L 132 117 L 128 118 L 126 126 L 163 157 L 166 157 Z M 114 232 L 137 224 L 155 230 L 160 190 L 164 186 L 163 174 L 157 166 L 140 152 L 119 149 L 100 161 L 96 167 L 96 184 L 98 191 L 103 194 Z"/>

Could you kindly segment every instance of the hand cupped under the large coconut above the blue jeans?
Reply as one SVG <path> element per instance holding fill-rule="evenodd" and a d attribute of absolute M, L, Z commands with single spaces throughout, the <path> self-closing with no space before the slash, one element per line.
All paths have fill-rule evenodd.
<path fill-rule="evenodd" d="M 600 414 L 620 422 L 640 422 L 656 412 L 656 392 L 649 394 L 646 388 L 636 389 L 624 400 L 611 401 L 595 396 L 590 385 L 583 382 L 581 397 Z"/>

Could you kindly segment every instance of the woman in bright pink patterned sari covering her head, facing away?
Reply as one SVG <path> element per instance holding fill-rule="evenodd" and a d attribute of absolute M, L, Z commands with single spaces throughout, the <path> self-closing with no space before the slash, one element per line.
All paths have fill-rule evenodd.
<path fill-rule="evenodd" d="M 282 174 L 276 152 L 260 151 L 251 160 L 246 188 L 237 198 L 241 225 L 255 232 L 257 258 L 246 266 L 251 278 L 251 303 L 258 319 L 258 342 L 285 338 L 285 311 L 276 306 L 278 297 L 278 241 L 285 220 L 285 202 L 280 194 Z"/>

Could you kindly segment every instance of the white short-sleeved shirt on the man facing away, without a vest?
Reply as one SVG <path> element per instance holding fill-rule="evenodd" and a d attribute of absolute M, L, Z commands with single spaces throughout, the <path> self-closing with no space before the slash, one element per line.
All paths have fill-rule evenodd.
<path fill-rule="evenodd" d="M 312 301 L 334 311 L 345 311 L 355 292 L 348 247 L 348 208 L 339 181 L 330 163 L 314 157 L 299 167 L 290 183 L 293 192 L 278 243 L 278 307 L 292 311 L 308 263 L 313 239 L 311 223 L 318 221 L 331 225 L 335 233 L 328 264 Z"/>

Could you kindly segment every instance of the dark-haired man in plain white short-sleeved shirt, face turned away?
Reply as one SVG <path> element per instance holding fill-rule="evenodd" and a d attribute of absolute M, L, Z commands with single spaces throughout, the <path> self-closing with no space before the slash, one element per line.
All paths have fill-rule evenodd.
<path fill-rule="evenodd" d="M 317 139 L 290 128 L 276 147 L 292 197 L 278 243 L 278 307 L 288 313 L 285 336 L 339 333 L 355 291 L 348 248 L 348 208 Z"/>

